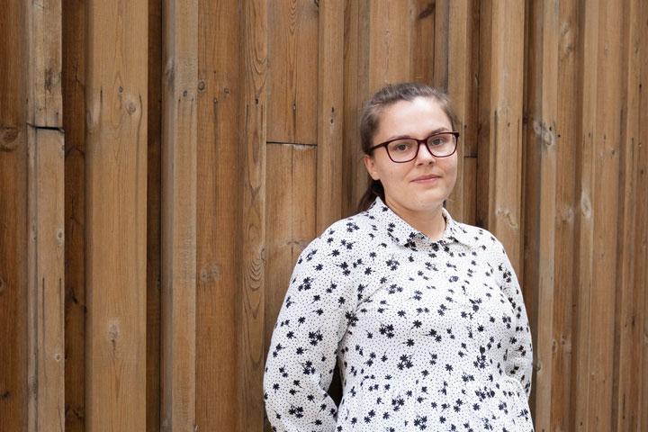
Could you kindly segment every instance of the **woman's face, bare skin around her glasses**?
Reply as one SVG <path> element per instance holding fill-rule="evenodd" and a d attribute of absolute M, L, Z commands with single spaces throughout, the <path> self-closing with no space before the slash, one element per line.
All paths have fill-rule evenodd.
<path fill-rule="evenodd" d="M 393 103 L 379 115 L 374 145 L 401 137 L 425 139 L 452 130 L 446 112 L 430 97 Z M 374 180 L 383 183 L 385 201 L 392 210 L 430 212 L 439 210 L 455 187 L 457 153 L 434 157 L 421 145 L 414 160 L 399 164 L 392 162 L 385 148 L 376 148 L 365 156 L 365 166 Z"/>

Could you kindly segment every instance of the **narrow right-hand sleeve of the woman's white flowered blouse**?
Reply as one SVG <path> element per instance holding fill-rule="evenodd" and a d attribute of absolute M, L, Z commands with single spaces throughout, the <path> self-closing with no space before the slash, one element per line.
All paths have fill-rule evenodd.
<path fill-rule="evenodd" d="M 499 270 L 503 280 L 504 292 L 515 312 L 515 326 L 509 338 L 509 353 L 505 372 L 518 380 L 522 388 L 527 392 L 528 399 L 531 395 L 531 376 L 533 374 L 531 330 L 518 277 L 513 266 L 511 266 L 504 247 L 502 247 Z"/>

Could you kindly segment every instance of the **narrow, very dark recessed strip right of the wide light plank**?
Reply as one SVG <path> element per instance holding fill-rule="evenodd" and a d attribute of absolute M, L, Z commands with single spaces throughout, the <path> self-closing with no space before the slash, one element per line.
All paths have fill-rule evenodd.
<path fill-rule="evenodd" d="M 160 430 L 162 1 L 148 0 L 147 118 L 147 414 L 148 432 Z"/>

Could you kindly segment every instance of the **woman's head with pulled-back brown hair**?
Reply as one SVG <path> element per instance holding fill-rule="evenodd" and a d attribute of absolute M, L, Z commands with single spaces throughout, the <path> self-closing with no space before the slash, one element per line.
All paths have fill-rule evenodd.
<path fill-rule="evenodd" d="M 456 139 L 445 133 L 436 134 L 454 131 L 457 125 L 446 94 L 428 85 L 386 85 L 374 94 L 365 105 L 360 121 L 365 166 L 372 177 L 360 209 L 366 209 L 375 196 L 410 211 L 428 211 L 441 206 L 455 186 L 457 155 L 455 151 L 450 156 L 446 155 L 454 150 L 448 146 L 452 146 Z M 416 147 L 418 152 L 411 153 L 413 158 L 404 163 L 400 161 L 410 157 L 395 156 L 397 150 L 402 154 L 401 149 L 407 148 L 401 145 L 401 141 L 375 147 L 392 139 L 423 140 L 432 135 L 435 138 L 428 141 L 428 146 L 410 141 L 413 145 L 411 151 Z M 437 144 L 446 147 L 440 149 Z M 433 156 L 428 148 L 433 148 L 437 156 Z"/>

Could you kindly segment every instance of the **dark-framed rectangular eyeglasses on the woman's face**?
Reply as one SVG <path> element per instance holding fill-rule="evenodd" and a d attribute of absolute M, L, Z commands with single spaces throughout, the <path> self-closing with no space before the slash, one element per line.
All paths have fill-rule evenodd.
<path fill-rule="evenodd" d="M 382 142 L 369 148 L 374 151 L 376 148 L 384 147 L 387 150 L 387 156 L 392 162 L 402 164 L 410 162 L 419 155 L 421 144 L 425 144 L 430 154 L 434 157 L 448 157 L 455 154 L 459 132 L 441 132 L 430 135 L 426 139 L 416 138 L 397 138 Z"/>

